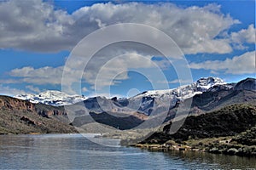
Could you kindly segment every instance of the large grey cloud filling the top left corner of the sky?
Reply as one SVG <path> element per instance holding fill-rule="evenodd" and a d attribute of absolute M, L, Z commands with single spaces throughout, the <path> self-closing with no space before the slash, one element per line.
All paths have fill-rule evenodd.
<path fill-rule="evenodd" d="M 58 51 L 70 48 L 68 26 L 74 20 L 63 10 L 49 3 L 2 1 L 0 3 L 0 47 L 33 51 Z"/>

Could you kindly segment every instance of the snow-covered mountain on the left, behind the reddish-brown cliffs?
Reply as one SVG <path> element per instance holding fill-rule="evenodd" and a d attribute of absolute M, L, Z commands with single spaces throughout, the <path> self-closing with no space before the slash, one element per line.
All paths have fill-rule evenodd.
<path fill-rule="evenodd" d="M 73 105 L 86 99 L 84 96 L 68 95 L 55 90 L 48 90 L 40 94 L 20 94 L 16 95 L 15 98 L 28 100 L 34 104 L 42 103 L 54 106 Z"/>

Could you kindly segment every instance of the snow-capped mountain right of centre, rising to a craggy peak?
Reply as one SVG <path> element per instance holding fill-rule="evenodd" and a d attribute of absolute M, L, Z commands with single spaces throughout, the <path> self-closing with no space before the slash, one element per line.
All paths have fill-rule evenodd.
<path fill-rule="evenodd" d="M 146 91 L 131 97 L 129 100 L 132 101 L 132 103 L 141 104 L 138 111 L 143 111 L 147 114 L 151 114 L 151 112 L 154 111 L 157 114 L 169 107 L 173 107 L 177 104 L 178 100 L 192 98 L 195 94 L 202 94 L 217 85 L 232 88 L 232 86 L 226 85 L 226 82 L 218 77 L 203 77 L 196 82 L 178 88 Z M 133 106 L 131 105 L 131 107 Z"/>

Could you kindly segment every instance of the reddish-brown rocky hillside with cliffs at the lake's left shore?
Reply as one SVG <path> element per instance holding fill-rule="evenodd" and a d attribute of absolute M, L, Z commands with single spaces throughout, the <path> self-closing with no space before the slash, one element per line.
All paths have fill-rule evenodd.
<path fill-rule="evenodd" d="M 76 133 L 63 108 L 0 96 L 0 134 Z"/>

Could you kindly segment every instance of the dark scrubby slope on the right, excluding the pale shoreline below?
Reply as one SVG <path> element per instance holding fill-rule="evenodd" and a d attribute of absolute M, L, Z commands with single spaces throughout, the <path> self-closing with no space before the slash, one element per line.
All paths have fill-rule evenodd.
<path fill-rule="evenodd" d="M 246 132 L 256 126 L 256 105 L 230 105 L 201 116 L 188 116 L 183 126 L 174 134 L 169 133 L 171 126 L 172 122 L 162 132 L 154 133 L 143 143 L 164 144 L 170 139 L 185 141 L 218 138 Z"/>

